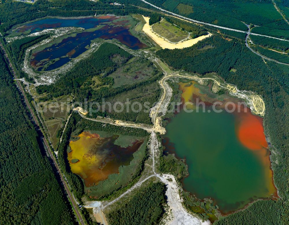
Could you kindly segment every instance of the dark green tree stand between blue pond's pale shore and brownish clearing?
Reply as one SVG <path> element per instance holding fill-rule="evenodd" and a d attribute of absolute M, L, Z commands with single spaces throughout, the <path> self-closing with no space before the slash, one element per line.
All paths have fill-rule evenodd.
<path fill-rule="evenodd" d="M 72 70 L 62 76 L 55 84 L 40 85 L 36 90 L 38 94 L 49 92 L 53 97 L 74 93 L 77 94 L 77 101 L 93 98 L 90 87 L 79 89 L 86 81 L 91 80 L 93 76 L 100 76 L 100 74 L 103 74 L 99 77 L 101 83 L 106 84 L 107 80 L 103 81 L 104 77 L 114 72 L 119 66 L 119 63 L 112 60 L 113 56 L 121 58 L 121 63 L 125 63 L 133 57 L 114 44 L 103 43 L 94 54 L 79 61 Z"/>

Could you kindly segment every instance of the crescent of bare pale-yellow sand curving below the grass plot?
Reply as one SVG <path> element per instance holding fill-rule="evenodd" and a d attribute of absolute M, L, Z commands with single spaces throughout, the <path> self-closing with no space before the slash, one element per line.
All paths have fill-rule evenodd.
<path fill-rule="evenodd" d="M 197 43 L 198 41 L 201 41 L 207 37 L 210 37 L 212 34 L 207 34 L 207 35 L 203 35 L 194 39 L 190 39 L 181 43 L 177 43 L 177 44 L 173 44 L 173 43 L 169 43 L 167 42 L 165 39 L 163 39 L 162 37 L 156 35 L 153 30 L 151 29 L 151 26 L 149 25 L 149 17 L 144 17 L 144 20 L 146 21 L 146 24 L 144 24 L 144 27 L 142 28 L 142 31 L 145 32 L 148 36 L 151 37 L 151 39 L 153 39 L 153 41 L 155 41 L 155 43 L 157 43 L 158 45 L 160 45 L 160 47 L 162 47 L 162 49 L 164 48 L 168 48 L 168 49 L 181 49 L 181 48 L 186 48 L 186 47 L 190 47 L 192 45 L 194 45 L 195 43 Z"/>

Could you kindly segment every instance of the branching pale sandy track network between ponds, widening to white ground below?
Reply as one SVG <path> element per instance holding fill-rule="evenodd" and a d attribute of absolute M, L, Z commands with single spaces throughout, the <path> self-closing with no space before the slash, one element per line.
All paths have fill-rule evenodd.
<path fill-rule="evenodd" d="M 117 202 L 118 200 L 123 198 L 124 196 L 128 195 L 131 191 L 140 187 L 145 181 L 149 180 L 150 178 L 157 177 L 162 182 L 164 182 L 168 187 L 168 189 L 166 191 L 166 196 L 168 197 L 167 202 L 168 202 L 168 205 L 170 206 L 170 209 L 172 210 L 172 214 L 173 214 L 173 218 L 169 221 L 169 224 L 171 224 L 171 225 L 172 224 L 173 225 L 201 225 L 201 224 L 202 225 L 208 225 L 208 224 L 210 224 L 209 221 L 201 222 L 197 217 L 189 214 L 186 211 L 186 209 L 183 207 L 183 205 L 182 205 L 183 200 L 182 200 L 181 196 L 179 195 L 179 186 L 177 185 L 174 176 L 170 175 L 170 174 L 159 174 L 159 173 L 155 172 L 155 165 L 157 164 L 157 160 L 158 160 L 158 156 L 159 156 L 159 147 L 160 147 L 160 143 L 158 141 L 158 138 L 157 138 L 155 132 L 161 132 L 164 129 L 160 121 L 161 121 L 162 116 L 166 113 L 167 105 L 170 102 L 171 94 L 172 94 L 171 87 L 166 83 L 166 80 L 170 79 L 170 78 L 174 78 L 174 77 L 198 79 L 198 80 L 212 80 L 218 86 L 229 90 L 230 93 L 240 95 L 240 93 L 239 93 L 240 91 L 236 88 L 236 86 L 233 86 L 233 85 L 230 85 L 227 83 L 221 83 L 220 81 L 218 81 L 217 79 L 212 78 L 212 77 L 201 78 L 201 77 L 197 77 L 197 76 L 189 76 L 186 74 L 181 75 L 181 74 L 179 74 L 179 71 L 167 73 L 165 71 L 165 69 L 158 63 L 158 60 L 153 60 L 152 58 L 151 58 L 151 60 L 154 61 L 155 63 L 157 63 L 160 66 L 160 68 L 164 71 L 164 76 L 159 82 L 161 88 L 164 91 L 163 91 L 163 94 L 162 94 L 159 102 L 157 103 L 157 105 L 155 105 L 155 107 L 153 107 L 151 109 L 153 111 L 153 113 L 150 114 L 150 117 L 154 123 L 154 126 L 150 129 L 147 129 L 147 127 L 145 127 L 145 128 L 140 127 L 140 126 L 137 126 L 134 124 L 129 124 L 127 126 L 137 127 L 137 128 L 145 129 L 145 130 L 151 132 L 151 137 L 150 137 L 150 141 L 149 141 L 149 143 L 150 143 L 149 148 L 151 150 L 151 156 L 150 156 L 151 165 L 148 164 L 148 166 L 152 168 L 152 171 L 149 174 L 147 174 L 145 178 L 142 178 L 141 180 L 139 180 L 136 184 L 134 184 L 134 186 L 132 186 L 130 189 L 125 191 L 123 194 L 121 194 L 119 197 L 112 200 L 111 202 L 91 201 L 91 202 L 86 202 L 86 205 L 84 205 L 84 207 L 85 208 L 94 208 L 94 212 L 100 215 L 100 218 L 102 219 L 101 222 L 103 224 L 106 224 L 105 218 L 103 216 L 103 209 L 114 204 L 115 202 Z M 242 94 L 242 92 L 241 92 L 241 94 Z M 238 97 L 240 97 L 240 96 L 238 96 Z M 253 97 L 256 98 L 256 96 L 253 96 Z M 249 97 L 248 97 L 248 99 L 249 99 Z M 253 99 L 251 99 L 251 101 L 254 102 Z M 262 98 L 260 98 L 260 101 L 262 101 Z M 254 104 L 252 104 L 252 106 L 255 107 L 255 111 L 258 114 L 264 113 L 264 110 L 265 110 L 264 107 L 265 106 L 264 106 L 263 101 L 262 101 L 262 103 L 263 103 L 263 107 L 261 107 L 260 110 L 257 109 L 257 107 L 255 107 Z M 104 119 L 101 119 L 101 120 L 100 119 L 92 119 L 92 118 L 87 118 L 86 116 L 82 115 L 80 112 L 79 112 L 79 114 L 85 119 L 89 119 L 89 120 L 93 120 L 93 121 L 97 121 L 97 122 L 105 122 Z M 110 124 L 117 125 L 113 121 L 114 120 L 111 120 Z"/>

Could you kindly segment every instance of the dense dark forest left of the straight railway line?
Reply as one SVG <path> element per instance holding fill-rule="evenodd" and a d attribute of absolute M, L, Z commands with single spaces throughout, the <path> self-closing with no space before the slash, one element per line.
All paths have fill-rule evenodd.
<path fill-rule="evenodd" d="M 0 54 L 2 224 L 73 224 L 73 213 Z M 69 207 L 69 208 L 68 208 Z"/>

